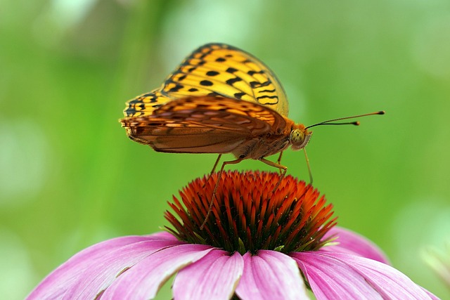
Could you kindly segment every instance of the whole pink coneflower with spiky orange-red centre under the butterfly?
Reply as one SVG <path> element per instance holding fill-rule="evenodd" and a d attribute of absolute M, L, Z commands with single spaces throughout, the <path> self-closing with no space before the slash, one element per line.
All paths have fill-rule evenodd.
<path fill-rule="evenodd" d="M 227 172 L 200 230 L 217 174 L 169 203 L 170 233 L 84 249 L 27 299 L 153 299 L 174 273 L 174 299 L 437 299 L 388 266 L 374 244 L 335 228 L 331 204 L 291 176 Z"/>

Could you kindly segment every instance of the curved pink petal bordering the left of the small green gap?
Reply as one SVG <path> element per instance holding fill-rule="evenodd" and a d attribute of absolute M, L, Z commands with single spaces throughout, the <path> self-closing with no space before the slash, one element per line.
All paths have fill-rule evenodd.
<path fill-rule="evenodd" d="M 177 270 L 201 259 L 212 249 L 204 244 L 181 244 L 155 252 L 122 273 L 101 299 L 153 299 Z"/>

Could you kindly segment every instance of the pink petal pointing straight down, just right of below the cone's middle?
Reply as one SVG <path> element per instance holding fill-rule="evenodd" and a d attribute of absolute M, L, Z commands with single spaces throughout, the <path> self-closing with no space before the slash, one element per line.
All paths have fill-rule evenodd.
<path fill-rule="evenodd" d="M 270 250 L 244 254 L 244 273 L 236 288 L 240 299 L 309 299 L 297 263 Z"/>

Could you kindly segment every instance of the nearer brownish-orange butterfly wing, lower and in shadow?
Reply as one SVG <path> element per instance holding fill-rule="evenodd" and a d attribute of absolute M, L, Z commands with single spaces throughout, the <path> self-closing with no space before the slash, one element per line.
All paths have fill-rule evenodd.
<path fill-rule="evenodd" d="M 160 152 L 228 153 L 255 137 L 283 133 L 287 121 L 258 103 L 198 96 L 172 100 L 152 115 L 124 118 L 122 126 L 131 139 Z"/>

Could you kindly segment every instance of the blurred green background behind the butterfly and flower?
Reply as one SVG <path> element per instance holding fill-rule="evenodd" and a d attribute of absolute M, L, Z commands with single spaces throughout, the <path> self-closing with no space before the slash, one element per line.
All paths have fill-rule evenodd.
<path fill-rule="evenodd" d="M 297 122 L 386 110 L 359 127 L 314 129 L 307 148 L 314 183 L 340 226 L 380 245 L 418 284 L 450 296 L 422 259 L 424 249 L 450 240 L 449 1 L 0 6 L 4 299 L 22 299 L 95 242 L 160 230 L 167 200 L 210 171 L 216 155 L 154 152 L 130 141 L 117 119 L 126 100 L 159 86 L 212 41 L 269 65 Z M 283 164 L 307 179 L 302 152 L 286 151 Z M 261 162 L 234 168 L 274 171 Z"/>

